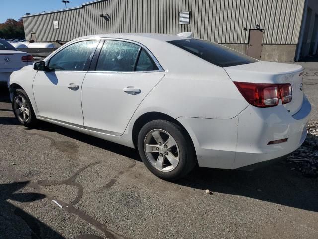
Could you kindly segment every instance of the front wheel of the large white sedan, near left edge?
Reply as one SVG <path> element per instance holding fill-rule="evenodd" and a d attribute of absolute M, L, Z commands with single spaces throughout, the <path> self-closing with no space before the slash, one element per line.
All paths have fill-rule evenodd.
<path fill-rule="evenodd" d="M 12 109 L 16 119 L 27 127 L 32 127 L 36 123 L 36 117 L 26 92 L 16 89 L 13 94 Z"/>

